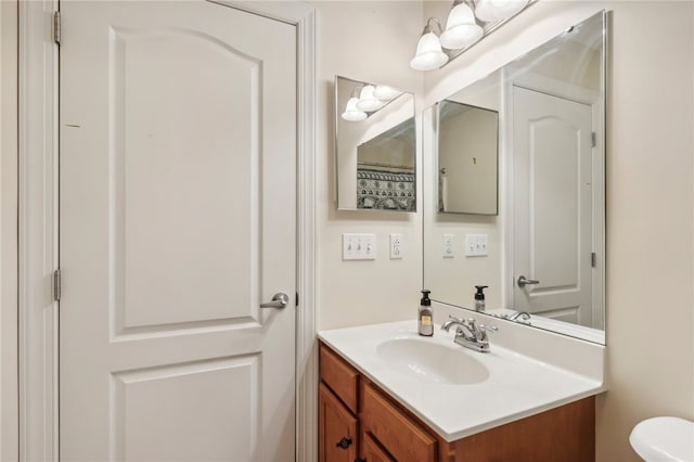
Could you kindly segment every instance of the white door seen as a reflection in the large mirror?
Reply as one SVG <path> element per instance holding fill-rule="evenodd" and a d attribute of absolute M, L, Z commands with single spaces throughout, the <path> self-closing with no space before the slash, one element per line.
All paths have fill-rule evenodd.
<path fill-rule="evenodd" d="M 514 86 L 513 146 L 513 308 L 592 325 L 592 108 Z"/>

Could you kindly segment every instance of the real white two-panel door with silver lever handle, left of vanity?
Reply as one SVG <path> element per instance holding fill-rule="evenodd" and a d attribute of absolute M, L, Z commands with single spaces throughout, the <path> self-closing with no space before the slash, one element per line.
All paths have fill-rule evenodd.
<path fill-rule="evenodd" d="M 61 11 L 61 459 L 294 460 L 295 27 Z"/>

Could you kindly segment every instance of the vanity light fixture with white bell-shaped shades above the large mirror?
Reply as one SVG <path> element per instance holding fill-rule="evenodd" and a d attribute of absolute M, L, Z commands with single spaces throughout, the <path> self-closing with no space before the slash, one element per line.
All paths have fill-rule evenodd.
<path fill-rule="evenodd" d="M 446 30 L 429 17 L 410 61 L 415 70 L 434 70 L 475 44 L 537 0 L 454 0 L 446 20 Z M 432 24 L 438 26 L 438 35 Z M 440 36 L 440 39 L 439 39 Z M 441 48 L 442 46 L 442 48 Z"/>

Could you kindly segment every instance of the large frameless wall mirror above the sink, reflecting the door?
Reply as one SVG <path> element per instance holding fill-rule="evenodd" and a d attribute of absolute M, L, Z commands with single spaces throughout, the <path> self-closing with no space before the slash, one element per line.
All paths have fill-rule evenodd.
<path fill-rule="evenodd" d="M 601 12 L 424 112 L 433 299 L 472 308 L 488 285 L 487 315 L 604 344 L 605 34 Z M 498 112 L 498 216 L 441 213 L 449 101 Z"/>

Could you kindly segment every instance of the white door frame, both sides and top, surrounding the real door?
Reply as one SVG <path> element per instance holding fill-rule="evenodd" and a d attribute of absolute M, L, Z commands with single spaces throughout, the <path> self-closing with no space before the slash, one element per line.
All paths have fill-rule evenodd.
<path fill-rule="evenodd" d="M 217 1 L 297 29 L 296 460 L 316 461 L 316 14 L 301 1 Z M 57 46 L 55 0 L 20 2 L 18 386 L 20 460 L 59 460 Z M 5 172 L 3 171 L 3 175 Z M 4 275 L 3 275 L 4 281 Z M 7 326 L 2 326 L 7 332 Z"/>

